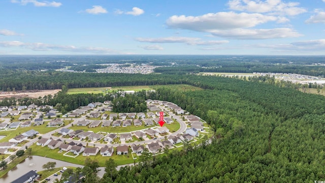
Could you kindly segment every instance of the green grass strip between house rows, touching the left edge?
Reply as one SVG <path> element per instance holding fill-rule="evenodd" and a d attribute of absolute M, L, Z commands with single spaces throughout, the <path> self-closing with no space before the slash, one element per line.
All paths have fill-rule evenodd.
<path fill-rule="evenodd" d="M 45 134 L 48 133 L 52 130 L 55 130 L 56 128 L 46 128 L 46 124 L 40 125 L 40 126 L 30 126 L 30 127 L 25 127 L 25 128 L 20 128 L 18 127 L 17 130 L 10 130 L 10 131 L 0 131 L 0 135 L 5 135 L 6 137 L 1 139 L 0 142 L 8 142 L 9 139 L 22 134 L 24 132 L 27 132 L 28 130 L 34 129 L 38 132 L 40 132 L 40 134 Z"/>

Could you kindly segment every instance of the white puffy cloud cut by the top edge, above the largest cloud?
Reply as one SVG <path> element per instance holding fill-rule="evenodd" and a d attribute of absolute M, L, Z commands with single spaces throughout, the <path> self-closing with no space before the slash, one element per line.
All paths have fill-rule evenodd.
<path fill-rule="evenodd" d="M 284 3 L 281 0 L 231 0 L 228 3 L 231 10 L 248 11 L 252 13 L 271 13 L 276 15 L 294 16 L 307 12 L 305 8 L 298 7 L 300 3 Z"/>

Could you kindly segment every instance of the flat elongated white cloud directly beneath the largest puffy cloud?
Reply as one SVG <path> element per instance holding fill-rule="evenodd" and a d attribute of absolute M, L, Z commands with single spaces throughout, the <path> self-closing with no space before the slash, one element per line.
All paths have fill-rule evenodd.
<path fill-rule="evenodd" d="M 302 36 L 301 34 L 297 33 L 291 28 L 272 28 L 272 29 L 236 28 L 231 30 L 215 30 L 211 32 L 211 34 L 218 37 L 239 39 L 239 40 L 291 38 L 291 37 Z"/>

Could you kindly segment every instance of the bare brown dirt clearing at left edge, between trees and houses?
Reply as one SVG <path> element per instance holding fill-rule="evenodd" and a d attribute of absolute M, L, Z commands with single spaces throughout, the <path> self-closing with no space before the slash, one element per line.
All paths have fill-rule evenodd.
<path fill-rule="evenodd" d="M 47 95 L 54 95 L 58 93 L 61 89 L 51 89 L 51 90 L 25 90 L 25 91 L 16 91 L 16 92 L 0 92 L 0 99 L 14 97 L 17 99 L 28 97 L 37 99 L 39 97 L 44 97 Z"/>

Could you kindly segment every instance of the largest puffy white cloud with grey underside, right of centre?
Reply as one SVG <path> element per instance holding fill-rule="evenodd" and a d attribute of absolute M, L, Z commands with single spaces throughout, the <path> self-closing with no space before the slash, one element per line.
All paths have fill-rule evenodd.
<path fill-rule="evenodd" d="M 215 29 L 253 27 L 261 23 L 277 20 L 278 17 L 258 13 L 218 12 L 196 17 L 174 15 L 170 17 L 166 23 L 171 28 L 210 32 Z"/>

